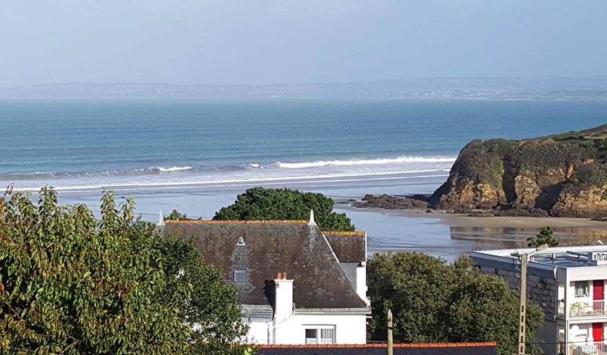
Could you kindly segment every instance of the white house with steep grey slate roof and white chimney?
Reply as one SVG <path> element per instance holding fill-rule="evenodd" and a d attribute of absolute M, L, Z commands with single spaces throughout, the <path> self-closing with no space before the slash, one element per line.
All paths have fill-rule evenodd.
<path fill-rule="evenodd" d="M 365 344 L 367 235 L 314 221 L 163 221 L 238 290 L 255 344 Z"/>

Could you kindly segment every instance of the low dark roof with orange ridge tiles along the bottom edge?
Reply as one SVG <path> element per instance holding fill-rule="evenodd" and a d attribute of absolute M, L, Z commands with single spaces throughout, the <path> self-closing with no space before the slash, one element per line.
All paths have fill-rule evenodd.
<path fill-rule="evenodd" d="M 394 355 L 496 355 L 495 342 L 394 344 Z M 385 355 L 386 344 L 262 345 L 259 355 Z"/>

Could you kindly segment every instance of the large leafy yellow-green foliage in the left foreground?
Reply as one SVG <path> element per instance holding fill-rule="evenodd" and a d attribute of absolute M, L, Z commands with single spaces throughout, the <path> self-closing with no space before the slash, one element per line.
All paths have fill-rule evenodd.
<path fill-rule="evenodd" d="M 86 206 L 58 206 L 51 188 L 38 205 L 20 192 L 0 198 L 0 353 L 219 354 L 219 343 L 242 335 L 230 323 L 234 290 L 191 245 L 134 220 L 133 206 L 106 192 L 97 220 Z M 229 313 L 226 324 L 192 329 L 219 319 L 203 299 Z"/>

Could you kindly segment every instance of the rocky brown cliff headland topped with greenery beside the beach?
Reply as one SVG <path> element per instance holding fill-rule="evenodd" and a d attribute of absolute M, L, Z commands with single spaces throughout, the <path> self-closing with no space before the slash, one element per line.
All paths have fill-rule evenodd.
<path fill-rule="evenodd" d="M 607 124 L 526 140 L 473 140 L 430 202 L 456 212 L 607 216 Z"/>

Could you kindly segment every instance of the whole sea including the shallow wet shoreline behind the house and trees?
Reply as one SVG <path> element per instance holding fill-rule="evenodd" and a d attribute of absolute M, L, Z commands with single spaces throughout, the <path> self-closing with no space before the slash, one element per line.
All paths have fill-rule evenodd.
<path fill-rule="evenodd" d="M 0 101 L 0 184 L 99 210 L 103 190 L 133 196 L 145 220 L 173 209 L 209 219 L 253 186 L 431 194 L 467 142 L 531 138 L 607 122 L 607 101 Z M 370 251 L 453 259 L 474 240 L 433 217 L 336 204 Z"/>

